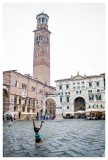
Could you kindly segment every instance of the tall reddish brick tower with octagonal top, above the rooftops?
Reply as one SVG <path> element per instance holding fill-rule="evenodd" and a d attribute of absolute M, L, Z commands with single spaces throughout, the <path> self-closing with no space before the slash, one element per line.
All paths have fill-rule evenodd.
<path fill-rule="evenodd" d="M 34 30 L 33 77 L 50 85 L 50 34 L 49 16 L 40 13 L 36 16 L 37 29 Z"/>

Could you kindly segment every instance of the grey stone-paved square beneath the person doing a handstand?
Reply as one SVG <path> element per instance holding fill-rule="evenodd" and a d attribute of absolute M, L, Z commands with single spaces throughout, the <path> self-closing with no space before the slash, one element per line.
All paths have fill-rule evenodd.
<path fill-rule="evenodd" d="M 103 157 L 105 151 L 104 120 L 47 120 L 37 149 L 31 120 L 8 124 L 3 123 L 3 157 Z"/>

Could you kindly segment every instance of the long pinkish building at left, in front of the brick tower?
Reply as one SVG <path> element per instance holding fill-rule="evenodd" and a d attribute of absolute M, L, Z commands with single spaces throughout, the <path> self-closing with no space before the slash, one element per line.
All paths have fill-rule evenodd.
<path fill-rule="evenodd" d="M 43 114 L 44 96 L 55 94 L 55 88 L 48 86 L 30 75 L 15 70 L 3 72 L 3 114 L 13 113 L 16 118 L 36 117 Z M 55 113 L 56 105 L 49 99 L 47 114 Z M 52 106 L 54 106 L 52 108 Z"/>

